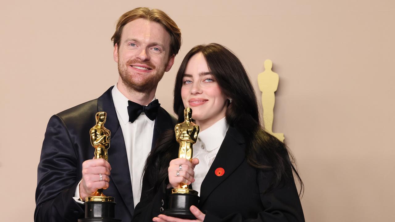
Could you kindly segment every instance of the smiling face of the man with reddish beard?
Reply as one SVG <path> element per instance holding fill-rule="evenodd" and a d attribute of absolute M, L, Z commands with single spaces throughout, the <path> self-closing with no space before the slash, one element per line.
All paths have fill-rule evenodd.
<path fill-rule="evenodd" d="M 146 19 L 126 24 L 119 45 L 114 47 L 114 60 L 125 87 L 143 93 L 155 90 L 174 63 L 169 50 L 170 35 L 161 24 Z"/>

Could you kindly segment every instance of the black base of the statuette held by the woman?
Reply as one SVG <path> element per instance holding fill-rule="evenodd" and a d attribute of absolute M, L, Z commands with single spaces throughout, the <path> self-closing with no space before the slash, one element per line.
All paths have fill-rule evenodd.
<path fill-rule="evenodd" d="M 169 205 L 167 209 L 163 211 L 163 214 L 167 216 L 174 216 L 185 219 L 196 219 L 194 214 L 191 213 L 189 208 L 194 205 L 198 206 L 199 196 L 194 194 L 170 194 Z"/>

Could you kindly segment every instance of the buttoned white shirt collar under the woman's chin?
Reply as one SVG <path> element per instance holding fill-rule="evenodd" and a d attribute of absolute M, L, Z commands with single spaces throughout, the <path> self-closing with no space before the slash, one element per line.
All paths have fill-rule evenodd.
<path fill-rule="evenodd" d="M 200 132 L 198 134 L 198 138 L 204 143 L 207 151 L 212 151 L 221 146 L 228 128 L 229 124 L 226 122 L 224 117 L 211 125 L 209 128 Z"/>

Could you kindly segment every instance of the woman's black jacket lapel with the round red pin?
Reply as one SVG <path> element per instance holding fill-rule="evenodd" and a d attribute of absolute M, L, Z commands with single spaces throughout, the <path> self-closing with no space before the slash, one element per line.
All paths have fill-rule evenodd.
<path fill-rule="evenodd" d="M 244 139 L 241 134 L 235 128 L 229 127 L 214 162 L 201 184 L 199 206 L 202 206 L 211 192 L 244 161 L 245 149 L 243 144 Z M 215 170 L 218 167 L 222 167 L 225 170 L 224 175 L 221 177 L 215 175 Z"/>

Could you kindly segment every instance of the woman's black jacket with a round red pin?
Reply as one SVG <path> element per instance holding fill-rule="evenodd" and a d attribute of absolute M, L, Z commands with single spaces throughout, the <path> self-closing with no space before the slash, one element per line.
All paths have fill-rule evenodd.
<path fill-rule="evenodd" d="M 220 177 L 215 174 L 218 167 L 225 171 Z M 272 171 L 262 172 L 248 165 L 245 140 L 235 128 L 229 127 L 201 184 L 198 208 L 206 214 L 204 221 L 305 221 L 293 179 L 265 192 L 271 178 Z M 154 216 L 160 214 L 162 207 L 166 208 L 169 194 L 167 182 L 162 183 L 162 188 L 154 196 L 142 194 L 133 222 L 151 222 Z"/>

